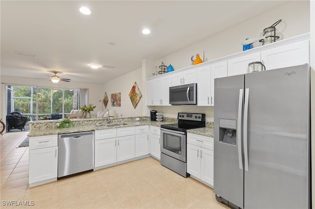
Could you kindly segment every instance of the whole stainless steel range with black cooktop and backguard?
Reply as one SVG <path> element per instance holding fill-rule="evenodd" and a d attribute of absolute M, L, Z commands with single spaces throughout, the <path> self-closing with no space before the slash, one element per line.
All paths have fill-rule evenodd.
<path fill-rule="evenodd" d="M 201 113 L 178 113 L 178 123 L 161 125 L 161 165 L 184 177 L 189 176 L 186 166 L 186 130 L 205 127 L 205 117 Z"/>

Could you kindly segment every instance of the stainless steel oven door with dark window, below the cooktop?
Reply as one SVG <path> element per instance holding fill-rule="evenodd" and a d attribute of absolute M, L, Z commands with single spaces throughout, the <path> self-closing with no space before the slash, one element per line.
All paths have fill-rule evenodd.
<path fill-rule="evenodd" d="M 186 162 L 186 134 L 182 131 L 173 131 L 160 128 L 161 153 Z"/>

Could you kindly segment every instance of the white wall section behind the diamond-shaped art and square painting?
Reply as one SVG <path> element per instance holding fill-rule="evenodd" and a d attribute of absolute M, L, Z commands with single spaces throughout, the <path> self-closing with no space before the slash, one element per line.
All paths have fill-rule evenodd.
<path fill-rule="evenodd" d="M 116 110 L 116 113 L 121 113 L 123 116 L 142 115 L 142 106 L 146 105 L 144 95 L 142 95 L 142 98 L 140 99 L 136 108 L 133 108 L 133 105 L 128 96 L 134 82 L 137 82 L 137 85 L 141 93 L 145 92 L 142 91 L 143 90 L 142 68 L 139 68 L 128 74 L 125 74 L 124 76 L 106 82 L 103 86 L 102 95 L 104 95 L 105 92 L 107 93 L 109 100 L 107 104 L 107 109 Z M 111 106 L 110 95 L 119 92 L 121 92 L 121 106 Z"/>

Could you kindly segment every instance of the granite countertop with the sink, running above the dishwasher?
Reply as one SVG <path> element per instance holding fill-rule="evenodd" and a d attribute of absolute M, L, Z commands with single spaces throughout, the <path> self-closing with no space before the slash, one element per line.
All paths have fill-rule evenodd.
<path fill-rule="evenodd" d="M 65 129 L 58 129 L 57 127 L 45 127 L 43 126 L 42 129 L 34 129 L 29 132 L 28 136 L 42 136 L 42 135 L 53 135 L 53 134 L 62 134 L 62 133 L 74 133 L 74 132 L 83 132 L 83 131 L 95 131 L 95 130 L 104 130 L 104 129 L 116 129 L 116 128 L 124 128 L 124 127 L 132 127 L 132 126 L 157 126 L 160 127 L 162 124 L 170 124 L 171 122 L 166 121 L 140 121 L 140 122 L 123 122 L 126 125 L 119 125 L 119 126 L 97 126 L 97 125 L 85 125 L 80 126 L 77 125 L 72 128 L 65 128 Z M 121 124 L 121 123 L 109 123 L 112 124 Z M 105 124 L 107 125 L 107 124 Z"/>

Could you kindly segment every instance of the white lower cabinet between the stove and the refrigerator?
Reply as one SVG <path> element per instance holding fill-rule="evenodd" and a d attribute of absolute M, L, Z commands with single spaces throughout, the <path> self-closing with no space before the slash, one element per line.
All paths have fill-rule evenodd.
<path fill-rule="evenodd" d="M 187 134 L 187 173 L 213 186 L 213 138 Z"/>

